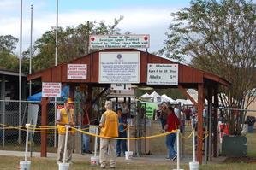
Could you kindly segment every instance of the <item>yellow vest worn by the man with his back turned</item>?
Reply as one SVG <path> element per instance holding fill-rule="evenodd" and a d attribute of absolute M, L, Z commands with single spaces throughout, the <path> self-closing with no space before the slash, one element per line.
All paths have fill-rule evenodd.
<path fill-rule="evenodd" d="M 105 122 L 100 135 L 103 137 L 118 137 L 118 115 L 112 110 L 104 112 Z"/>

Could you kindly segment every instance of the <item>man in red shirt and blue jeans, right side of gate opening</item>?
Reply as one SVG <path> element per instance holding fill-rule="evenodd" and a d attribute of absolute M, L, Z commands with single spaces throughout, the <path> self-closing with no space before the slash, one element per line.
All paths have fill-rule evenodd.
<path fill-rule="evenodd" d="M 180 125 L 180 120 L 174 114 L 174 108 L 168 107 L 168 118 L 166 121 L 166 125 L 164 126 L 164 129 L 162 129 L 161 132 L 164 132 L 167 130 L 168 132 L 175 131 L 178 129 L 178 126 Z M 174 144 L 176 142 L 176 132 L 170 133 L 169 135 L 166 136 L 166 147 L 168 148 L 169 151 L 169 158 L 172 161 L 175 161 L 177 158 L 177 153 L 176 150 L 174 149 Z M 177 150 L 179 151 L 179 150 Z"/>

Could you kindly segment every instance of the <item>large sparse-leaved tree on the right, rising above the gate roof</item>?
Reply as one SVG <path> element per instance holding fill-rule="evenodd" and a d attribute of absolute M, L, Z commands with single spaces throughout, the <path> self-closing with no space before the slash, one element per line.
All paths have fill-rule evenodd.
<path fill-rule="evenodd" d="M 232 84 L 219 89 L 225 94 L 220 96 L 224 108 L 247 109 L 255 98 L 256 5 L 246 0 L 193 0 L 190 8 L 171 16 L 174 22 L 159 53 L 180 61 L 191 56 L 191 66 Z M 240 135 L 246 113 L 225 114 L 229 134 Z"/>

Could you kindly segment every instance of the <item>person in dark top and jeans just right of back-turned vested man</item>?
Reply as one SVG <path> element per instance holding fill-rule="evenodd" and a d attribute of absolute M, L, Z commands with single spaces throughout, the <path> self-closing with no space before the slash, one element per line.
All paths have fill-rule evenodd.
<path fill-rule="evenodd" d="M 124 131 L 124 129 L 127 128 L 127 119 L 122 116 L 122 109 L 117 109 L 118 114 L 118 122 L 119 122 L 119 130 L 118 130 L 118 138 L 127 138 L 127 133 Z M 122 152 L 123 155 L 125 155 L 125 152 L 127 151 L 126 147 L 126 139 L 117 139 L 116 140 L 116 156 L 120 157 L 121 155 L 121 149 L 120 144 L 122 144 Z"/>

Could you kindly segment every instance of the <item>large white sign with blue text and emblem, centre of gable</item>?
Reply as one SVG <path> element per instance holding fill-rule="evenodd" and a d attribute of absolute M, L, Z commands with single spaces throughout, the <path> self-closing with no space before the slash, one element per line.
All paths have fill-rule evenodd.
<path fill-rule="evenodd" d="M 140 83 L 140 52 L 100 52 L 98 83 Z"/>

